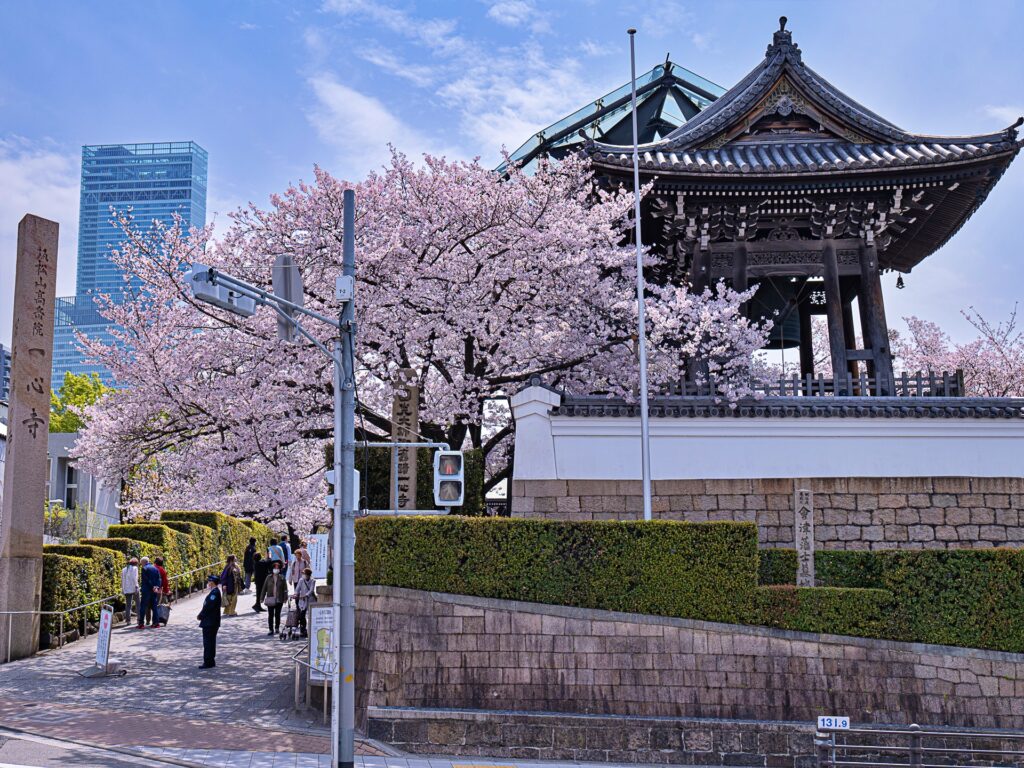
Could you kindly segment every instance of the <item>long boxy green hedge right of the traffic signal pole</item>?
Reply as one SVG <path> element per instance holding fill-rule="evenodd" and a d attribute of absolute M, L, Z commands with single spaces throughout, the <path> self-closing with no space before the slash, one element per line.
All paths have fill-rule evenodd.
<path fill-rule="evenodd" d="M 366 518 L 356 582 L 717 622 L 755 612 L 753 523 Z"/>

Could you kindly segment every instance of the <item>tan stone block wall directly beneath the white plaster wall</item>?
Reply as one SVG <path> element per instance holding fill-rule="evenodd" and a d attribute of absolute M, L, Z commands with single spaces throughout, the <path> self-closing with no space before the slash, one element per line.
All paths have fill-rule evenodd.
<path fill-rule="evenodd" d="M 820 549 L 1024 546 L 1024 478 L 831 477 L 808 480 L 654 480 L 662 520 L 756 522 L 762 547 L 793 547 L 793 494 L 814 493 Z M 639 480 L 514 480 L 512 515 L 640 519 Z"/>

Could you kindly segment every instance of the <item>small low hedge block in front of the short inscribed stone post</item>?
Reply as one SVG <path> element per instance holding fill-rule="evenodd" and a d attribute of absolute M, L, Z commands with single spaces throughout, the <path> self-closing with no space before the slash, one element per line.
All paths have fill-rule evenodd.
<path fill-rule="evenodd" d="M 764 627 L 830 635 L 887 638 L 893 596 L 885 590 L 761 587 L 757 621 Z"/>

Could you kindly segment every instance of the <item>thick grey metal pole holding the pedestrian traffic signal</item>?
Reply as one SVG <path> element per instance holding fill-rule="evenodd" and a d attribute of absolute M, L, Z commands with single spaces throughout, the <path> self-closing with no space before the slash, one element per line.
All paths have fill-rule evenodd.
<path fill-rule="evenodd" d="M 342 273 L 355 276 L 355 193 L 344 193 L 344 241 Z M 345 302 L 341 311 L 341 415 L 336 425 L 341 433 L 335 437 L 335 452 L 341 447 L 340 498 L 336 502 L 341 513 L 341 671 L 339 687 L 335 689 L 341 703 L 338 727 L 339 768 L 355 765 L 355 306 L 354 299 Z M 335 464 L 339 462 L 335 453 Z"/>

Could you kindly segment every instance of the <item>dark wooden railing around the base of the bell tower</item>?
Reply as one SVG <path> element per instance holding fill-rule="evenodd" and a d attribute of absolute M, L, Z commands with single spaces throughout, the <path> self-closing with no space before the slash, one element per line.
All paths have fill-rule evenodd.
<path fill-rule="evenodd" d="M 794 375 L 773 381 L 751 383 L 754 392 L 766 397 L 964 397 L 964 372 L 936 374 L 933 371 L 916 374 L 902 373 L 892 380 L 874 376 L 847 374 L 839 378 Z M 674 382 L 666 392 L 674 397 L 715 397 L 722 393 L 722 386 L 714 377 L 708 382 Z"/>

